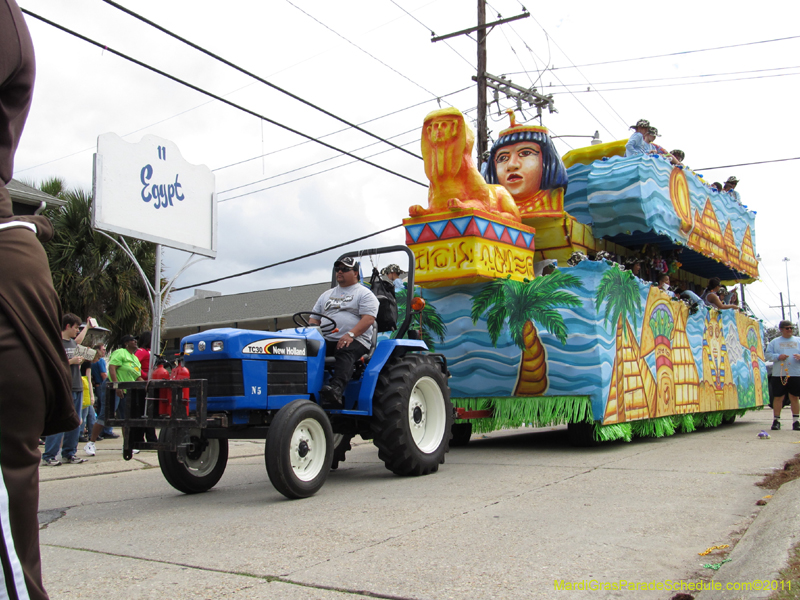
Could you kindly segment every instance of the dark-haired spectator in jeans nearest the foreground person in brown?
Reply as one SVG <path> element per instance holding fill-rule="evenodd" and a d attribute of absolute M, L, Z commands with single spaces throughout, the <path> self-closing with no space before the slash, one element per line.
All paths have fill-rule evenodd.
<path fill-rule="evenodd" d="M 80 331 L 81 320 L 77 315 L 67 313 L 61 318 L 61 343 L 67 356 L 72 374 L 72 404 L 75 412 L 80 415 L 83 411 L 83 381 L 81 380 L 80 364 L 83 359 L 76 356 L 78 344 L 83 341 L 86 332 L 89 331 L 89 319 L 86 320 L 86 327 Z M 79 465 L 86 462 L 85 458 L 75 456 L 78 451 L 78 438 L 81 434 L 81 425 L 68 431 L 67 433 L 56 433 L 48 435 L 44 440 L 44 454 L 42 454 L 43 464 L 50 467 L 60 467 L 61 461 L 67 464 Z M 62 447 L 63 444 L 63 447 Z M 61 450 L 61 460 L 56 458 Z"/>

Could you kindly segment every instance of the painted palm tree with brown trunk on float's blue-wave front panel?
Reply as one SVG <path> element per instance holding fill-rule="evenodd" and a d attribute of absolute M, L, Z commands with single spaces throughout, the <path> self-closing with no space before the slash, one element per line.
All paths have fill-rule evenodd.
<path fill-rule="evenodd" d="M 533 322 L 565 344 L 567 327 L 556 309 L 580 306 L 580 299 L 566 288 L 581 287 L 577 277 L 555 271 L 526 282 L 495 279 L 473 298 L 472 322 L 477 323 L 488 313 L 486 325 L 492 345 L 497 346 L 507 324 L 511 339 L 522 350 L 514 396 L 536 396 L 547 390 L 547 351 Z"/>

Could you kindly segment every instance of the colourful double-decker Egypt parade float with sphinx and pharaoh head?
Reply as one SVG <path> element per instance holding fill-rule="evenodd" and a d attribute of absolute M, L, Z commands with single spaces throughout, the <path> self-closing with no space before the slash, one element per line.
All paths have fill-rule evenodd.
<path fill-rule="evenodd" d="M 485 178 L 473 140 L 456 109 L 426 117 L 428 205 L 403 221 L 457 427 L 567 423 L 574 441 L 596 443 L 716 426 L 768 403 L 759 321 L 690 306 L 619 264 L 650 257 L 685 288 L 750 282 L 753 212 L 687 168 L 626 158 L 625 140 L 562 159 L 545 127 L 511 113 Z"/>

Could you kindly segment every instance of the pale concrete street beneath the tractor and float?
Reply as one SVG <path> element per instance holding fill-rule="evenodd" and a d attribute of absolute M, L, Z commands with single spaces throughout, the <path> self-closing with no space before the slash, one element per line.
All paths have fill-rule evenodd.
<path fill-rule="evenodd" d="M 666 599 L 776 578 L 800 539 L 800 487 L 761 507 L 771 492 L 754 483 L 800 453 L 800 432 L 759 439 L 771 420 L 597 448 L 571 447 L 565 426 L 473 435 L 420 478 L 358 440 L 294 501 L 271 486 L 263 442 L 231 442 L 217 487 L 187 496 L 155 453 L 125 462 L 106 440 L 88 463 L 40 469 L 45 584 L 54 600 Z M 730 562 L 704 568 L 724 544 Z"/>

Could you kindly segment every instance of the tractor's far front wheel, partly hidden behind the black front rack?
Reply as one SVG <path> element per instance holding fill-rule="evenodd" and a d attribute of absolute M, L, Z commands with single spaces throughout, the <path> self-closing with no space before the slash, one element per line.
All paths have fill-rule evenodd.
<path fill-rule="evenodd" d="M 162 437 L 167 435 L 162 430 Z M 228 440 L 208 439 L 200 429 L 189 432 L 191 447 L 186 461 L 178 460 L 177 452 L 158 451 L 161 473 L 172 487 L 184 494 L 207 492 L 217 485 L 228 464 Z"/>

